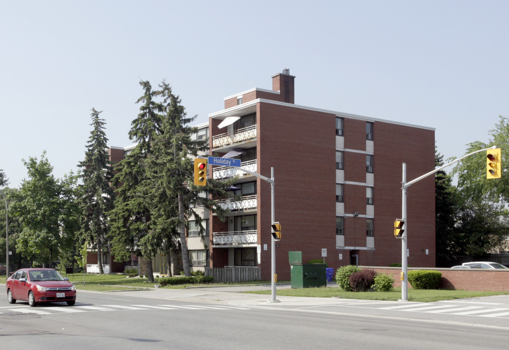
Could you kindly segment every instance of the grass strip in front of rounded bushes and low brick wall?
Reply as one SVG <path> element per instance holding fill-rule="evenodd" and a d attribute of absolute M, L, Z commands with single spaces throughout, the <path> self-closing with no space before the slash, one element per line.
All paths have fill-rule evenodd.
<path fill-rule="evenodd" d="M 270 290 L 250 291 L 249 293 L 270 294 Z M 390 292 L 351 292 L 341 288 L 320 287 L 320 288 L 299 288 L 279 289 L 277 295 L 288 295 L 290 297 L 311 297 L 311 298 L 344 298 L 363 300 L 388 300 L 398 301 L 401 299 L 401 288 L 394 288 Z M 445 290 L 445 289 L 408 289 L 408 301 L 413 302 L 436 302 L 440 300 L 452 300 L 462 298 L 488 297 L 489 295 L 509 294 L 501 291 L 468 291 L 468 290 Z"/>

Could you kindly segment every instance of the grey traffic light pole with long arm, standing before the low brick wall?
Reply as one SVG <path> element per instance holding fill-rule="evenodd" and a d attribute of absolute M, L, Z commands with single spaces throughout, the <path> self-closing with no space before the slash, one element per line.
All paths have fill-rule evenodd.
<path fill-rule="evenodd" d="M 475 154 L 475 153 L 479 153 L 479 152 L 483 152 L 483 151 L 487 151 L 489 149 L 495 149 L 497 148 L 497 146 L 493 146 L 493 147 L 489 147 L 489 148 L 483 148 L 483 149 L 479 149 L 478 151 L 474 151 L 472 153 L 468 153 L 458 159 L 455 159 L 453 161 L 451 161 L 450 163 L 447 163 L 446 165 L 444 166 L 441 166 L 440 168 L 437 168 L 433 171 L 430 171 L 429 173 L 426 173 L 424 175 L 421 175 L 415 179 L 413 179 L 412 181 L 407 181 L 407 164 L 406 163 L 403 163 L 403 178 L 402 178 L 402 186 L 401 186 L 401 189 L 402 189 L 402 196 L 401 196 L 401 219 L 404 221 L 404 232 L 403 232 L 403 236 L 401 238 L 401 299 L 399 299 L 398 301 L 408 301 L 408 264 L 407 264 L 407 234 L 408 234 L 408 228 L 407 228 L 407 188 L 408 186 L 414 184 L 415 182 L 417 181 L 420 181 L 422 180 L 423 178 L 426 178 L 430 175 L 433 175 L 437 172 L 439 172 L 440 170 L 450 166 L 451 164 L 454 164 L 472 154 Z"/>

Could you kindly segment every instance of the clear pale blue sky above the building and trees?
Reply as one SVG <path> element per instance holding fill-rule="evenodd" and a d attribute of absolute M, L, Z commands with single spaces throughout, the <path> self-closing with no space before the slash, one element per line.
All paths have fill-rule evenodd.
<path fill-rule="evenodd" d="M 461 156 L 509 116 L 508 15 L 491 0 L 0 0 L 0 169 L 19 187 L 46 150 L 56 177 L 75 172 L 93 107 L 108 145 L 132 144 L 140 79 L 166 79 L 198 124 L 285 68 L 296 104 L 434 127 Z"/>

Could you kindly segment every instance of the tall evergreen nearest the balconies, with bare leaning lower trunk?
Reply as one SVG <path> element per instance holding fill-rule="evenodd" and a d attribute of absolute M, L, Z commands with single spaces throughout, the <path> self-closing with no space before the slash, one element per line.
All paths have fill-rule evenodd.
<path fill-rule="evenodd" d="M 195 206 L 203 206 L 224 219 L 224 210 L 209 198 L 225 197 L 236 179 L 229 181 L 207 180 L 207 186 L 193 184 L 193 158 L 199 152 L 208 150 L 208 140 L 192 140 L 191 134 L 196 127 L 188 126 L 196 119 L 187 117 L 179 96 L 172 93 L 171 87 L 164 81 L 157 92 L 162 97 L 162 123 L 160 133 L 153 139 L 153 152 L 147 159 L 147 171 L 150 186 L 146 193 L 151 206 L 151 234 L 143 241 L 150 240 L 152 247 L 175 249 L 176 238 L 180 239 L 184 275 L 190 276 L 189 255 L 186 232 L 188 220 L 195 220 L 204 236 L 202 218 Z M 206 195 L 203 195 L 203 192 Z"/>

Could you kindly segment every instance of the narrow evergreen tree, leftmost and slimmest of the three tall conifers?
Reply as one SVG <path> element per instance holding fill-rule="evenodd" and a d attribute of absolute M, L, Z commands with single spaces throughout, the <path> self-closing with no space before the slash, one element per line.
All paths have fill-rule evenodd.
<path fill-rule="evenodd" d="M 102 111 L 92 109 L 93 130 L 90 132 L 85 159 L 79 162 L 82 168 L 81 186 L 83 195 L 80 207 L 83 211 L 81 220 L 81 237 L 91 241 L 97 249 L 99 273 L 102 268 L 102 252 L 106 248 L 106 237 L 109 231 L 107 213 L 113 208 L 115 193 L 111 189 L 112 169 L 107 151 L 105 121 L 99 118 Z"/>

